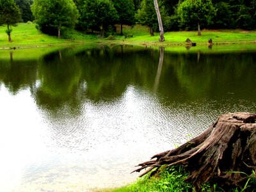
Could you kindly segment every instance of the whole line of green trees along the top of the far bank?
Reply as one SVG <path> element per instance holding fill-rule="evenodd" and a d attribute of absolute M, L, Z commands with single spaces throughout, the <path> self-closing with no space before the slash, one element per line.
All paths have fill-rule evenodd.
<path fill-rule="evenodd" d="M 102 36 L 113 33 L 115 24 L 142 24 L 150 35 L 159 31 L 154 0 L 0 0 L 0 24 L 10 36 L 17 22 L 35 20 L 43 33 L 79 31 Z M 158 0 L 164 31 L 207 29 L 255 29 L 256 0 Z"/>

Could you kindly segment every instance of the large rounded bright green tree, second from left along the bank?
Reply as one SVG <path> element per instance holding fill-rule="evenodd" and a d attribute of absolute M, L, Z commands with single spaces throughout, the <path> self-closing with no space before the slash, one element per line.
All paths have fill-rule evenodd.
<path fill-rule="evenodd" d="M 74 28 L 79 18 L 76 4 L 72 0 L 34 0 L 31 10 L 38 28 L 46 26 L 57 29 L 58 38 L 61 37 L 62 27 Z"/>

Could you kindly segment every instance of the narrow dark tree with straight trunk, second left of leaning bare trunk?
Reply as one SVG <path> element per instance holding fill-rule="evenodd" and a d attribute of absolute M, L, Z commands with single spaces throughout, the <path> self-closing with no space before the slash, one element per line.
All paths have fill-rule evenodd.
<path fill-rule="evenodd" d="M 118 13 L 118 23 L 121 25 L 120 35 L 123 35 L 123 24 L 134 23 L 135 8 L 133 0 L 112 0 Z"/>

